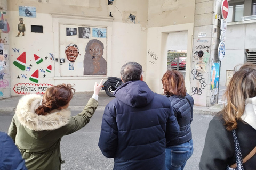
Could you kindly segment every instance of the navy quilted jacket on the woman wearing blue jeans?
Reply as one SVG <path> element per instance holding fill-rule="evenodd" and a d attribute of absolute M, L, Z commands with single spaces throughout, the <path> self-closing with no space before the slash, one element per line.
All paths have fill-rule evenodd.
<path fill-rule="evenodd" d="M 167 146 L 186 143 L 192 139 L 190 124 L 193 120 L 194 99 L 189 94 L 186 94 L 185 97 L 177 95 L 167 97 L 171 101 L 175 117 L 180 125 L 179 141 L 172 141 Z"/>

